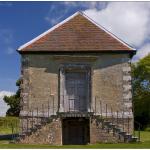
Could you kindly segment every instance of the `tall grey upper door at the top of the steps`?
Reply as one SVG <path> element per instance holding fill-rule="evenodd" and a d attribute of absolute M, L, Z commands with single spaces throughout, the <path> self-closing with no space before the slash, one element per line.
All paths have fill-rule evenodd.
<path fill-rule="evenodd" d="M 65 76 L 65 110 L 86 111 L 87 77 L 85 72 L 67 72 Z"/>

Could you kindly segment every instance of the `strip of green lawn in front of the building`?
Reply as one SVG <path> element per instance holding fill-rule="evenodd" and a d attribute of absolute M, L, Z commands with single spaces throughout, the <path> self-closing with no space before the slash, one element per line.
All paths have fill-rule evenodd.
<path fill-rule="evenodd" d="M 0 141 L 0 148 L 150 148 L 150 132 L 141 131 L 140 143 L 121 143 L 121 144 L 94 144 L 94 145 L 65 145 L 65 146 L 50 146 L 50 145 L 29 145 L 29 144 L 9 144 L 9 141 Z"/>

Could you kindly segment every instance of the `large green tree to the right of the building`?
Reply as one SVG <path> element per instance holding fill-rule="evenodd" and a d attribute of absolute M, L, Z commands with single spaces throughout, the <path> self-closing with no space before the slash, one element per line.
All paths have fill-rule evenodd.
<path fill-rule="evenodd" d="M 134 118 L 150 125 L 150 55 L 132 65 Z"/>

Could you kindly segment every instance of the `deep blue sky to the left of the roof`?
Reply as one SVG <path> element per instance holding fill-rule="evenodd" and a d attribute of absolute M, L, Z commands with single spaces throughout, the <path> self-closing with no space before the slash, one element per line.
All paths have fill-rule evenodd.
<path fill-rule="evenodd" d="M 88 5 L 64 2 L 0 2 L 0 91 L 15 91 L 20 75 L 16 49 Z M 63 15 L 62 15 L 63 14 Z"/>

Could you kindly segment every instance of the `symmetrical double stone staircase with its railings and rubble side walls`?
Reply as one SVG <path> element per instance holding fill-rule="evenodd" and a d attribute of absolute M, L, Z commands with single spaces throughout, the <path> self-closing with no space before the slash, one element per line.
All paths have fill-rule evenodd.
<path fill-rule="evenodd" d="M 98 102 L 96 102 L 96 99 L 95 99 L 95 105 L 94 105 L 95 107 L 90 109 L 90 111 L 88 112 L 76 112 L 76 111 L 58 112 L 54 108 L 54 102 L 52 103 L 53 105 L 50 105 L 48 102 L 48 105 L 46 105 L 45 108 L 42 105 L 41 109 L 36 108 L 36 109 L 30 110 L 29 112 L 26 112 L 25 114 L 21 114 L 21 117 L 22 117 L 21 122 L 23 124 L 23 126 L 21 127 L 22 132 L 19 134 L 19 136 L 14 137 L 14 141 L 18 143 L 20 142 L 28 143 L 27 141 L 32 140 L 32 138 L 35 138 L 37 141 L 40 141 L 40 140 L 42 141 L 43 139 L 46 138 L 45 140 L 47 139 L 48 140 L 47 142 L 45 142 L 45 144 L 53 143 L 51 142 L 52 141 L 51 139 L 53 140 L 54 138 L 57 139 L 59 137 L 58 135 L 62 134 L 61 133 L 62 127 L 60 125 L 62 119 L 69 118 L 69 117 L 72 117 L 72 118 L 78 117 L 78 118 L 88 118 L 89 120 L 94 120 L 93 130 L 91 129 L 90 130 L 92 133 L 95 132 L 94 134 L 97 134 L 96 132 L 99 132 L 99 135 L 97 135 L 99 139 L 101 139 L 100 137 L 101 135 L 106 137 L 104 138 L 105 140 L 101 140 L 101 141 L 109 142 L 107 138 L 110 139 L 110 141 L 112 138 L 113 143 L 140 142 L 140 136 L 136 137 L 135 135 L 132 135 L 131 134 L 132 129 L 131 131 L 129 131 L 129 127 L 131 127 L 131 125 L 129 125 L 129 120 L 125 121 L 127 123 L 126 126 L 128 126 L 128 130 L 126 130 L 124 126 L 122 127 L 120 125 L 121 122 L 118 123 L 119 119 L 122 119 L 123 122 L 124 122 L 124 119 L 129 119 L 129 115 L 126 114 L 125 116 L 123 111 L 120 111 L 120 114 L 119 114 L 119 111 L 113 111 L 111 108 L 109 111 L 107 104 L 102 105 L 102 102 L 101 101 L 99 102 L 100 102 L 99 109 L 97 109 L 96 107 Z M 51 108 L 49 105 L 53 107 Z M 57 123 L 55 124 L 55 122 Z M 60 126 L 60 128 L 58 129 L 57 126 Z M 53 128 L 56 128 L 55 132 L 58 132 L 57 136 L 55 136 L 54 134 L 51 135 L 50 132 L 53 133 Z M 44 137 L 45 135 L 43 134 L 43 132 L 45 131 L 48 132 L 48 133 L 45 133 L 47 137 Z M 105 136 L 105 134 L 107 136 Z M 37 137 L 40 136 L 39 139 L 37 139 L 36 136 Z M 91 138 L 94 138 L 94 137 L 91 137 Z M 34 142 L 36 143 L 36 141 Z"/>

